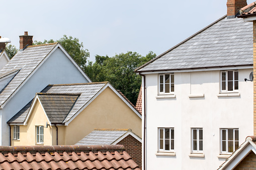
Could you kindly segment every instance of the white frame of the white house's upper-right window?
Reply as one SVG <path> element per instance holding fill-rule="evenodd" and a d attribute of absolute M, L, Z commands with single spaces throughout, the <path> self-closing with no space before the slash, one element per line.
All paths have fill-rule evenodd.
<path fill-rule="evenodd" d="M 233 72 L 233 90 L 228 90 L 228 71 L 232 71 Z M 238 73 L 238 80 L 235 80 L 235 72 Z M 226 73 L 226 80 L 222 81 L 222 73 Z M 237 81 L 238 83 L 238 89 L 235 90 L 235 81 Z M 225 90 L 222 90 L 222 82 L 225 82 Z M 221 92 L 238 92 L 239 90 L 239 72 L 238 70 L 223 70 L 220 72 L 220 91 Z"/>

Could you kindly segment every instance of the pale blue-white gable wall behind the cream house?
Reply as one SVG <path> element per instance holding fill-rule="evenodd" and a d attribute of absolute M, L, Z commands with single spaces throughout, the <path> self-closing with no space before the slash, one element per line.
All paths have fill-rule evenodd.
<path fill-rule="evenodd" d="M 10 143 L 7 121 L 48 84 L 88 83 L 73 63 L 58 48 L 2 109 L 2 144 Z"/>

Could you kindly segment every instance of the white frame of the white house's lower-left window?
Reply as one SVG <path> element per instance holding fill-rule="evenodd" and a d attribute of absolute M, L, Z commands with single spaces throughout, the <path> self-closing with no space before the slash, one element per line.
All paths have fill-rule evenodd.
<path fill-rule="evenodd" d="M 169 129 L 169 139 L 165 139 L 165 129 Z M 163 138 L 160 138 L 160 130 L 163 130 Z M 173 138 L 172 138 L 172 132 L 173 132 Z M 158 151 L 160 152 L 173 152 L 174 151 L 174 128 L 164 128 L 160 127 L 158 128 Z M 160 140 L 163 141 L 163 148 L 160 148 Z M 165 140 L 169 140 L 169 150 L 165 149 Z M 172 143 L 173 143 L 173 148 L 172 148 Z"/>

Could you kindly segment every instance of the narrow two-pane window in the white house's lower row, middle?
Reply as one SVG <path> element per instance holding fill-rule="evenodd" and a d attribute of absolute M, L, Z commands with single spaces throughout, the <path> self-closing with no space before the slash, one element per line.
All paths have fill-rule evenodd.
<path fill-rule="evenodd" d="M 203 129 L 192 128 L 192 152 L 203 151 Z"/>

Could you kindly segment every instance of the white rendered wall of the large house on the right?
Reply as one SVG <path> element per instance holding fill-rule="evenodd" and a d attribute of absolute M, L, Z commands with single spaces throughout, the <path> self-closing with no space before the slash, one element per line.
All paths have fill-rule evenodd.
<path fill-rule="evenodd" d="M 147 169 L 217 169 L 225 160 L 217 157 L 220 128 L 239 128 L 239 145 L 253 135 L 253 82 L 244 81 L 251 71 L 239 70 L 240 96 L 229 97 L 217 97 L 220 71 L 174 73 L 176 98 L 156 98 L 158 74 L 147 74 Z M 155 155 L 158 127 L 174 127 L 176 156 Z M 203 128 L 205 157 L 189 157 L 193 127 Z"/>

